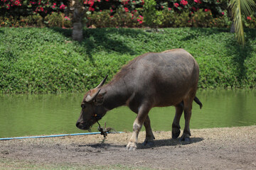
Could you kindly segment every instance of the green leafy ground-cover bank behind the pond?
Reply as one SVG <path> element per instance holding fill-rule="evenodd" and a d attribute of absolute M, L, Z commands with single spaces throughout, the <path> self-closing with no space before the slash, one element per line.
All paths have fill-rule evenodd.
<path fill-rule="evenodd" d="M 0 91 L 61 93 L 85 91 L 110 78 L 145 52 L 184 48 L 200 66 L 200 88 L 256 87 L 256 30 L 246 30 L 244 49 L 228 29 L 85 29 L 73 42 L 72 30 L 0 28 Z M 109 80 L 110 80 L 109 78 Z"/>

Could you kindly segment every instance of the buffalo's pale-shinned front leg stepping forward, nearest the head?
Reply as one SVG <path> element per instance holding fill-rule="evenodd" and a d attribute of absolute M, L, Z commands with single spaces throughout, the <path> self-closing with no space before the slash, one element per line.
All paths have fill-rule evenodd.
<path fill-rule="evenodd" d="M 129 139 L 128 145 L 126 147 L 127 150 L 137 149 L 139 131 L 142 129 L 142 125 L 144 123 L 144 120 L 146 119 L 146 116 L 148 116 L 148 113 L 149 108 L 147 108 L 146 106 L 142 106 L 139 108 L 139 113 L 133 124 L 132 137 Z"/>

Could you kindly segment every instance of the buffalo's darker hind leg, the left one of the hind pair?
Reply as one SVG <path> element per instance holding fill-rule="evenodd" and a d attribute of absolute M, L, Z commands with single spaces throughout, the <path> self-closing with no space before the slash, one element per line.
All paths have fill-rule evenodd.
<path fill-rule="evenodd" d="M 173 139 L 177 139 L 178 136 L 181 133 L 181 126 L 180 126 L 180 120 L 181 120 L 181 115 L 183 113 L 183 101 L 181 103 L 179 103 L 177 106 L 175 106 L 176 108 L 176 113 L 175 113 L 175 117 L 174 117 L 174 122 L 172 124 L 172 130 L 171 130 L 171 137 Z"/>

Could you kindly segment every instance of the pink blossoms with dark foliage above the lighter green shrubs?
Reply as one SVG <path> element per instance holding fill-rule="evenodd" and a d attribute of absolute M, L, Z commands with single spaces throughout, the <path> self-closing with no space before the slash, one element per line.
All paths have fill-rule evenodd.
<path fill-rule="evenodd" d="M 28 16 L 40 14 L 43 18 L 52 12 L 64 12 L 68 8 L 71 0 L 0 0 L 1 16 Z M 82 0 L 82 4 L 87 10 L 92 12 L 109 10 L 113 16 L 118 8 L 122 8 L 127 13 L 142 11 L 144 0 Z M 228 0 L 156 0 L 158 11 L 165 8 L 181 13 L 190 11 L 194 13 L 199 8 L 210 10 L 213 16 L 223 13 L 227 8 Z M 169 10 L 170 11 L 170 10 Z M 142 12 L 140 12 L 142 14 Z"/>

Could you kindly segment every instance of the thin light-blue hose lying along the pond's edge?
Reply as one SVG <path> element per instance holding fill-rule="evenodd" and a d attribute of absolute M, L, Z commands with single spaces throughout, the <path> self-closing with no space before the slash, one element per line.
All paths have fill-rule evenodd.
<path fill-rule="evenodd" d="M 122 133 L 122 132 L 107 132 L 107 133 Z M 46 135 L 46 136 L 30 136 L 30 137 L 6 137 L 6 138 L 0 138 L 0 140 L 21 140 L 21 139 L 28 139 L 28 138 L 64 137 L 64 136 L 96 135 L 96 134 L 100 134 L 100 132 L 86 132 L 86 133 L 72 133 L 72 134 Z"/>

